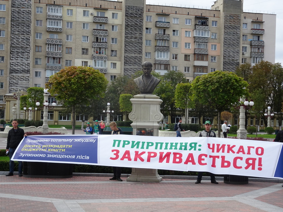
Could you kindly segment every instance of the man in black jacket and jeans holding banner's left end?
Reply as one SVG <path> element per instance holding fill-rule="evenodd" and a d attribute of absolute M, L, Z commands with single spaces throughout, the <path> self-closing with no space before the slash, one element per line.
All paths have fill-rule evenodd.
<path fill-rule="evenodd" d="M 7 177 L 14 175 L 14 160 L 11 160 L 11 158 L 14 155 L 14 152 L 17 149 L 21 140 L 24 138 L 24 136 L 26 136 L 24 130 L 22 128 L 19 128 L 18 124 L 19 124 L 18 120 L 14 119 L 12 121 L 13 129 L 10 129 L 8 132 L 6 152 L 9 151 L 10 171 L 9 174 L 6 175 Z M 18 161 L 18 162 L 19 162 L 19 177 L 22 177 L 23 161 Z"/>

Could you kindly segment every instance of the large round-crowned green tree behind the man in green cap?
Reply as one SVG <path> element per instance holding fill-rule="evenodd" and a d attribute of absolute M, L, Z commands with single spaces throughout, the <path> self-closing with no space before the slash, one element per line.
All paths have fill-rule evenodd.
<path fill-rule="evenodd" d="M 221 130 L 221 112 L 247 95 L 247 82 L 233 72 L 215 71 L 197 77 L 192 81 L 192 100 L 210 105 L 218 111 L 218 137 Z"/>

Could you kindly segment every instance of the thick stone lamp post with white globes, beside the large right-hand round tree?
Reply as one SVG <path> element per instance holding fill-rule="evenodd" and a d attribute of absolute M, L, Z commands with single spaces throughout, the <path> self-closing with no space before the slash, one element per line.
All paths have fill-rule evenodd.
<path fill-rule="evenodd" d="M 240 107 L 237 107 L 236 109 L 240 109 L 240 121 L 239 121 L 239 129 L 237 131 L 237 138 L 238 139 L 247 139 L 247 130 L 245 129 L 246 124 L 246 109 L 250 109 L 251 106 L 254 105 L 254 102 L 251 100 L 250 102 L 247 101 L 247 99 L 240 99 L 240 102 L 243 102 L 244 104 L 241 104 Z"/>

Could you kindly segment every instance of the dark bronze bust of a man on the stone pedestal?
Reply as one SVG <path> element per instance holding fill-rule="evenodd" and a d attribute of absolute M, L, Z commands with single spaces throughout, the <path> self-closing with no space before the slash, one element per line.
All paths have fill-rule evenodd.
<path fill-rule="evenodd" d="M 138 86 L 141 94 L 152 94 L 153 90 L 159 84 L 160 79 L 151 75 L 152 63 L 144 62 L 142 63 L 143 75 L 134 79 L 136 85 Z"/>

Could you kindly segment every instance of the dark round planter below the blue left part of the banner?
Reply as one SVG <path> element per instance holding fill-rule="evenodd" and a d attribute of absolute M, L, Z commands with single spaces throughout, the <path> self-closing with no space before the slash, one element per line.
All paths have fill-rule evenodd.
<path fill-rule="evenodd" d="M 23 177 L 70 178 L 73 177 L 73 165 L 67 163 L 24 161 Z"/>

